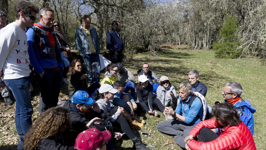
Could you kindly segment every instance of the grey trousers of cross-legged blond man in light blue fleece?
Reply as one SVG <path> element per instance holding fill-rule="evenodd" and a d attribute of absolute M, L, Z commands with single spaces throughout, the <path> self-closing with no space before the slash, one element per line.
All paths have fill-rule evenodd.
<path fill-rule="evenodd" d="M 185 148 L 185 137 L 195 125 L 186 124 L 180 120 L 168 120 L 157 124 L 157 130 L 174 136 L 174 141 L 180 147 Z"/>

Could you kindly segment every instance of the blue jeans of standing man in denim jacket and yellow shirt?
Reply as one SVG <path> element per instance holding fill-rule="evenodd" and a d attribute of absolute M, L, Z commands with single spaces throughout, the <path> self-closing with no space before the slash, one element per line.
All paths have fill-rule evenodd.
<path fill-rule="evenodd" d="M 93 82 L 100 82 L 100 71 L 101 71 L 101 63 L 100 57 L 97 54 L 88 54 L 86 57 L 83 57 L 84 64 L 88 73 L 88 82 L 93 84 Z M 98 62 L 98 66 L 92 72 L 92 63 Z M 94 73 L 94 78 L 93 78 Z"/>

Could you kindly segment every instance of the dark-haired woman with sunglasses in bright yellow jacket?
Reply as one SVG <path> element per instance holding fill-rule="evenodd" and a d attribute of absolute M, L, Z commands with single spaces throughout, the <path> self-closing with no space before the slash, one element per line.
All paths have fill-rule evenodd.
<path fill-rule="evenodd" d="M 106 72 L 104 78 L 102 79 L 101 85 L 103 84 L 114 84 L 115 81 L 119 80 L 118 76 L 118 66 L 114 63 L 110 63 L 106 67 Z"/>

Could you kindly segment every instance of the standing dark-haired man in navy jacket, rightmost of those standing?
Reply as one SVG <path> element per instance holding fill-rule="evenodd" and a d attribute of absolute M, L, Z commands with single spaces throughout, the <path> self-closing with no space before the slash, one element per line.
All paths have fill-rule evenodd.
<path fill-rule="evenodd" d="M 106 48 L 109 50 L 111 62 L 122 62 L 122 52 L 124 50 L 123 40 L 119 34 L 121 30 L 120 22 L 113 21 L 111 31 L 107 33 Z"/>

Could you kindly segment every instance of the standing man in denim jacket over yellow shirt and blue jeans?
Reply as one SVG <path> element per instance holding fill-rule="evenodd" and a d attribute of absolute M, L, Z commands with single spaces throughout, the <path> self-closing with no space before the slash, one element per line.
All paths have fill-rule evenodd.
<path fill-rule="evenodd" d="M 84 15 L 82 25 L 75 31 L 75 42 L 80 55 L 83 57 L 84 64 L 88 73 L 88 82 L 100 82 L 100 44 L 97 30 L 90 26 L 92 18 L 89 15 Z M 92 71 L 92 63 L 97 62 L 98 65 Z M 93 78 L 94 72 L 94 78 Z"/>

